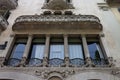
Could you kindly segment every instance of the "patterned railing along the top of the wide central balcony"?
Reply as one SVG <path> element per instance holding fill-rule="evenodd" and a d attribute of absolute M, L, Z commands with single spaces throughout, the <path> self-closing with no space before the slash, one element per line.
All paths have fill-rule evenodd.
<path fill-rule="evenodd" d="M 20 16 L 15 20 L 16 22 L 44 22 L 44 21 L 91 21 L 100 23 L 99 18 L 93 15 L 29 15 Z"/>

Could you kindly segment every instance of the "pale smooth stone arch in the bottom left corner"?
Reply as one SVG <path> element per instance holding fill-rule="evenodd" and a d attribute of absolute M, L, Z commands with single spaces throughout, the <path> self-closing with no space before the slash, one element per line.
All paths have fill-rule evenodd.
<path fill-rule="evenodd" d="M 0 79 L 11 80 L 43 80 L 33 75 L 19 73 L 19 72 L 0 72 Z"/>

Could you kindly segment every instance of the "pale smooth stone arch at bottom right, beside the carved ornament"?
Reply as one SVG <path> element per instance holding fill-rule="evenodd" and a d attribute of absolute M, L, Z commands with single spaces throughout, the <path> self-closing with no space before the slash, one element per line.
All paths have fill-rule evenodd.
<path fill-rule="evenodd" d="M 120 78 L 102 72 L 83 72 L 70 76 L 66 80 L 120 80 Z"/>

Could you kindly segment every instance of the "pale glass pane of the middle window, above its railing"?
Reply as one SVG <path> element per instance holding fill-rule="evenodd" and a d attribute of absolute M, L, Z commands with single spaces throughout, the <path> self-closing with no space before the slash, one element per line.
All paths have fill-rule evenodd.
<path fill-rule="evenodd" d="M 59 58 L 64 59 L 64 45 L 52 44 L 50 45 L 50 59 Z"/>

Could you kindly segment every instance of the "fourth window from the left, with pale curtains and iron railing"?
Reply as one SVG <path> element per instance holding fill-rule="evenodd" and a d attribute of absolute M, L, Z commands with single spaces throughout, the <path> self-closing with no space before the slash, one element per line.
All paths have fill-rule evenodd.
<path fill-rule="evenodd" d="M 84 64 L 82 42 L 80 38 L 69 38 L 69 59 L 72 65 L 81 66 Z"/>

